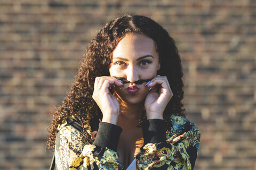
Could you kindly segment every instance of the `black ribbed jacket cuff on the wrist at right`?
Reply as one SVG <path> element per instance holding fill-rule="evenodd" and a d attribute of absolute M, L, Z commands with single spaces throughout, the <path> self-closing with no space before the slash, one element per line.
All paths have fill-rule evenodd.
<path fill-rule="evenodd" d="M 164 124 L 164 120 L 161 119 L 150 119 L 141 123 L 144 145 L 166 142 Z"/>

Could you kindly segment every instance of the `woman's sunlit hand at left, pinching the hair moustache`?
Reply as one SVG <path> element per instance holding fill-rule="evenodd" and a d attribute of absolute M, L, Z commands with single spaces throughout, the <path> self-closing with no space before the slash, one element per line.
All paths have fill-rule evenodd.
<path fill-rule="evenodd" d="M 123 86 L 123 83 L 113 77 L 97 77 L 94 82 L 92 98 L 101 109 L 102 122 L 117 124 L 120 106 L 116 97 L 109 90 L 111 86 Z"/>

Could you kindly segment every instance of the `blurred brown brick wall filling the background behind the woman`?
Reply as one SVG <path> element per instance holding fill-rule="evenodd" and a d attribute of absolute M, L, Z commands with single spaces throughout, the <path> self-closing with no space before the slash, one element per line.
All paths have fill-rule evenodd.
<path fill-rule="evenodd" d="M 256 1 L 0 1 L 0 169 L 47 169 L 54 107 L 89 40 L 122 13 L 176 40 L 187 117 L 201 129 L 195 169 L 256 169 Z"/>

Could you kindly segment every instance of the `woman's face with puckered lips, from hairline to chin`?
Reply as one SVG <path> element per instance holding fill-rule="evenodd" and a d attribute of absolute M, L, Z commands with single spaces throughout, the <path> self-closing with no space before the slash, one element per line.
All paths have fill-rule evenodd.
<path fill-rule="evenodd" d="M 109 72 L 111 77 L 125 78 L 130 83 L 115 87 L 115 92 L 127 104 L 143 102 L 149 92 L 146 82 L 160 69 L 159 56 L 153 39 L 142 34 L 126 34 L 113 51 Z"/>

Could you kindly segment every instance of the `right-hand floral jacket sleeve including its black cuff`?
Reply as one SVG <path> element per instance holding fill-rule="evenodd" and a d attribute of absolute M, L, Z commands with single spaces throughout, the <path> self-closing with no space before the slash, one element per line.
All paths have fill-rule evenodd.
<path fill-rule="evenodd" d="M 172 115 L 165 130 L 163 120 L 142 123 L 144 145 L 136 156 L 137 169 L 193 169 L 200 131 L 186 118 Z"/>

